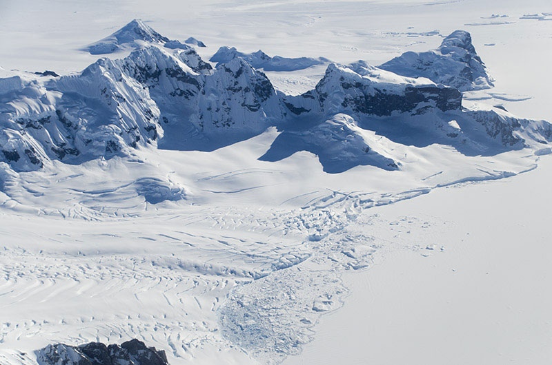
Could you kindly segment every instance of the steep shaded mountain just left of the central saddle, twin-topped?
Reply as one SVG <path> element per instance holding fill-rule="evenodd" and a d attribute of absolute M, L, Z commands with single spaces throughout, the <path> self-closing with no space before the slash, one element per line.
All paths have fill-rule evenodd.
<path fill-rule="evenodd" d="M 213 149 L 217 136 L 252 136 L 283 118 L 270 81 L 239 57 L 211 70 L 195 53 L 148 47 L 132 52 L 121 67 L 148 87 L 161 110 L 161 125 L 171 131 L 164 148 Z"/>

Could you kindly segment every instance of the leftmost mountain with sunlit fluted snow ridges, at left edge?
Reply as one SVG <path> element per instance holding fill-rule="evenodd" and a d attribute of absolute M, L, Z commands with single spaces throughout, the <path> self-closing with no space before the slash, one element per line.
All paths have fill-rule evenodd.
<path fill-rule="evenodd" d="M 53 158 L 81 163 L 128 154 L 163 133 L 147 90 L 110 59 L 74 76 L 26 74 L 0 83 L 2 160 L 19 171 L 40 169 Z"/>

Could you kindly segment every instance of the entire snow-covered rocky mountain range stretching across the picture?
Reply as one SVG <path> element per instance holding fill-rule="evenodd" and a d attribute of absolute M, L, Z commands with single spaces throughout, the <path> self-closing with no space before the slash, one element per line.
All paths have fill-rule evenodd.
<path fill-rule="evenodd" d="M 548 123 L 522 123 L 497 108 L 466 111 L 457 88 L 424 77 L 436 70 L 442 79 L 439 71 L 458 70 L 459 63 L 469 67 L 462 61 L 466 59 L 483 67 L 466 32 L 447 37 L 440 54 L 424 53 L 433 55 L 433 63 L 415 75 L 419 77 L 400 76 L 364 61 L 331 63 L 313 90 L 288 96 L 277 93 L 254 67 L 258 60 L 273 60 L 262 52 L 243 59 L 230 49 L 228 59 L 213 69 L 190 46 L 167 47 L 172 41 L 144 26 L 132 21 L 117 32 L 117 39 L 128 40 L 129 29 L 138 29 L 132 34 L 149 42 L 125 59 L 99 59 L 71 76 L 1 79 L 1 160 L 17 171 L 29 171 L 52 159 L 81 163 L 158 145 L 210 151 L 276 126 L 285 132 L 259 156 L 262 160 L 306 150 L 319 156 L 325 171 L 340 172 L 356 165 L 402 165 L 380 154 L 382 147 L 366 140 L 363 131 L 409 145 L 452 145 L 470 156 L 519 149 L 526 139 L 551 140 Z M 386 67 L 393 68 L 388 65 L 397 60 Z M 451 80 L 446 83 L 460 82 Z"/>

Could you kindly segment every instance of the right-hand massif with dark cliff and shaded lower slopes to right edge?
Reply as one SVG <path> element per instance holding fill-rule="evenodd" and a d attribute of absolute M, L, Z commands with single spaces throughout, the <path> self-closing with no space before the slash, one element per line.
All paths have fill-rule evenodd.
<path fill-rule="evenodd" d="M 496 154 L 508 149 L 520 149 L 526 142 L 546 144 L 552 140 L 552 126 L 549 123 L 528 123 L 495 107 L 480 106 L 466 110 L 462 107 L 462 94 L 453 87 L 435 84 L 423 77 L 413 79 L 399 76 L 362 61 L 348 66 L 329 65 L 324 78 L 314 90 L 299 96 L 284 96 L 283 101 L 288 108 L 288 115 L 295 117 L 295 123 L 282 127 L 284 133 L 279 136 L 281 140 L 277 139 L 273 147 L 278 146 L 276 142 L 282 145 L 283 140 L 286 140 L 284 145 L 293 145 L 291 151 L 299 149 L 313 152 L 324 165 L 325 152 L 321 152 L 320 145 L 325 146 L 326 152 L 332 149 L 328 143 L 335 143 L 334 151 L 337 145 L 342 145 L 343 154 L 333 154 L 334 160 L 341 156 L 339 163 L 332 163 L 333 167 L 324 165 L 328 172 L 343 171 L 345 166 L 351 166 L 355 160 L 363 165 L 360 160 L 370 160 L 363 155 L 364 150 L 374 152 L 381 148 L 372 140 L 365 147 L 352 149 L 350 143 L 357 139 L 358 132 L 333 133 L 332 138 L 326 138 L 324 143 L 312 137 L 313 129 L 320 128 L 319 125 L 311 127 L 313 119 L 324 124 L 337 115 L 352 118 L 355 121 L 353 125 L 359 126 L 360 130 L 375 132 L 397 143 L 419 147 L 442 143 L 468 156 Z M 302 137 L 297 138 L 301 125 L 307 130 L 302 129 Z M 335 127 L 335 123 L 331 123 L 324 130 Z M 263 158 L 279 160 L 289 155 L 278 152 L 281 149 L 272 148 Z M 397 168 L 401 161 L 370 164 Z"/>

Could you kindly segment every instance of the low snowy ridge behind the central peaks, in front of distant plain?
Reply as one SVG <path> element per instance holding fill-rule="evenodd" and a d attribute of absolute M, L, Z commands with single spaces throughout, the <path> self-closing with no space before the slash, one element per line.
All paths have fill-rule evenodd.
<path fill-rule="evenodd" d="M 262 50 L 246 54 L 239 52 L 233 47 L 219 48 L 217 53 L 215 53 L 209 61 L 216 62 L 217 65 L 220 65 L 222 63 L 230 62 L 235 57 L 240 57 L 253 67 L 262 68 L 265 71 L 296 71 L 303 70 L 314 65 L 323 65 L 324 63 L 329 62 L 328 59 L 324 59 L 322 57 L 318 59 L 311 59 L 310 57 L 299 57 L 296 59 L 288 59 L 280 56 L 270 57 Z"/>

